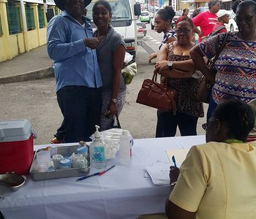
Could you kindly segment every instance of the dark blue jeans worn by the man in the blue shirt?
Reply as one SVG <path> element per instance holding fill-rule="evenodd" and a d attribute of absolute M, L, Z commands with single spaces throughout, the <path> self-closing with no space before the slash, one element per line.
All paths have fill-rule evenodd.
<path fill-rule="evenodd" d="M 64 116 L 64 142 L 90 141 L 95 125 L 99 124 L 101 89 L 66 86 L 57 92 L 57 100 Z"/>

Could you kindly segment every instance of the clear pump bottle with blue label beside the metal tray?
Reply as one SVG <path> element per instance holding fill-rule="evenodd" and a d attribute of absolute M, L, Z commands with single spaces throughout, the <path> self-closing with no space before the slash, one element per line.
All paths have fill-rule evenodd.
<path fill-rule="evenodd" d="M 105 169 L 107 161 L 105 159 L 105 144 L 100 139 L 99 126 L 95 126 L 96 131 L 94 132 L 94 142 L 91 143 L 91 158 L 92 167 L 95 169 Z"/>

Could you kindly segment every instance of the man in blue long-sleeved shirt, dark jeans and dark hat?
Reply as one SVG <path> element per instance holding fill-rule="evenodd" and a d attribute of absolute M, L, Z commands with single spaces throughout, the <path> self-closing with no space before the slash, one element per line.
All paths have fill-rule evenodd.
<path fill-rule="evenodd" d="M 64 142 L 89 141 L 99 124 L 102 79 L 89 18 L 90 0 L 56 0 L 62 10 L 47 28 L 48 55 L 54 60 L 57 100 L 64 116 Z"/>

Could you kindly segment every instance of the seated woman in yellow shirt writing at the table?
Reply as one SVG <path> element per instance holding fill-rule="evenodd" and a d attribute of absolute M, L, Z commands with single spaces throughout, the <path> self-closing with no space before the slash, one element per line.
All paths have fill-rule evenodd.
<path fill-rule="evenodd" d="M 246 143 L 254 125 L 248 104 L 217 106 L 203 125 L 207 143 L 191 147 L 179 174 L 170 167 L 168 218 L 256 218 L 256 142 Z"/>

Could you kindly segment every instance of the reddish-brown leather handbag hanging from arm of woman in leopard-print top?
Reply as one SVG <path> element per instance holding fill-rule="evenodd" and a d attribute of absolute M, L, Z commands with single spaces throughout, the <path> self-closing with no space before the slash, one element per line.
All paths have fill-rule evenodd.
<path fill-rule="evenodd" d="M 156 72 L 152 79 L 143 81 L 136 102 L 159 110 L 171 110 L 173 115 L 176 115 L 176 99 L 177 91 L 173 88 L 167 88 L 166 80 L 165 85 L 159 84 Z"/>

